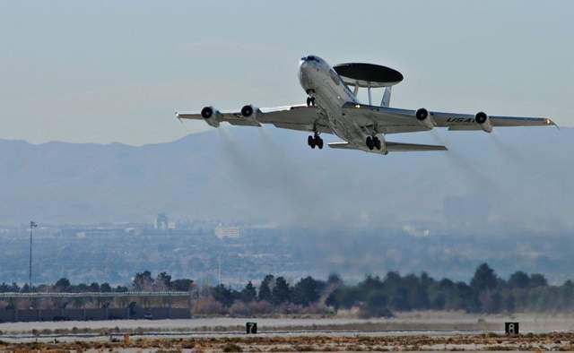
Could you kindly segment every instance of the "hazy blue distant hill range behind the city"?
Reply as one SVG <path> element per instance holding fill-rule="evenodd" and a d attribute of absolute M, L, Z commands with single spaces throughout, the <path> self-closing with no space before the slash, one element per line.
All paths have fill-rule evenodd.
<path fill-rule="evenodd" d="M 336 138 L 326 136 L 327 141 Z M 574 129 L 430 132 L 450 151 L 310 150 L 306 134 L 232 128 L 142 147 L 0 140 L 0 222 L 222 220 L 312 228 L 574 229 Z"/>

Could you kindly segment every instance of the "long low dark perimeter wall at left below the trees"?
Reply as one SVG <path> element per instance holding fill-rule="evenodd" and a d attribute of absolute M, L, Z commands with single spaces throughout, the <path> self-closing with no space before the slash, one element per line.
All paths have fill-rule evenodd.
<path fill-rule="evenodd" d="M 181 307 L 133 307 L 97 309 L 2 309 L 0 323 L 34 321 L 90 321 L 90 320 L 129 320 L 129 319 L 189 319 L 189 308 Z"/>

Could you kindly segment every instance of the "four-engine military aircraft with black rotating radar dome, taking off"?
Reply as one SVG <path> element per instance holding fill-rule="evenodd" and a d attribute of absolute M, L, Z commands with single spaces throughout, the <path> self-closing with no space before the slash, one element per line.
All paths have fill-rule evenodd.
<path fill-rule="evenodd" d="M 403 74 L 382 65 L 347 63 L 331 67 L 318 56 L 303 56 L 299 65 L 300 85 L 307 104 L 274 108 L 246 105 L 239 111 L 220 111 L 211 106 L 198 113 L 176 113 L 179 119 L 200 119 L 218 127 L 231 125 L 276 127 L 313 133 L 307 143 L 321 150 L 321 133 L 334 133 L 344 142 L 329 143 L 335 149 L 352 149 L 386 155 L 395 151 L 446 151 L 445 146 L 389 142 L 390 133 L 413 133 L 447 127 L 448 130 L 483 130 L 499 126 L 555 125 L 548 117 L 489 116 L 443 113 L 419 108 L 390 108 L 391 89 Z M 359 89 L 367 89 L 369 104 L 359 101 Z M 383 91 L 380 105 L 372 104 L 372 89 Z"/>

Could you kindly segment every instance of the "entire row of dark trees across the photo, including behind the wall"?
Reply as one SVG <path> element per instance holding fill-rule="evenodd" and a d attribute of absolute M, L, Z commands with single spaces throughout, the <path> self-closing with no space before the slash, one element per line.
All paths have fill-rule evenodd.
<path fill-rule="evenodd" d="M 326 280 L 306 277 L 290 282 L 267 275 L 258 285 L 244 288 L 223 284 L 198 288 L 193 280 L 173 280 L 166 272 L 152 277 L 150 271 L 136 273 L 129 286 L 112 288 L 108 283 L 73 285 L 67 279 L 40 285 L 34 291 L 123 292 L 189 291 L 196 299 L 197 314 L 328 313 L 356 309 L 364 316 L 390 316 L 395 311 L 464 310 L 469 313 L 574 311 L 574 283 L 567 280 L 552 286 L 540 273 L 516 271 L 508 280 L 500 278 L 487 263 L 479 265 L 468 282 L 433 279 L 426 272 L 401 276 L 389 271 L 383 278 L 367 276 L 356 284 L 345 284 L 337 275 Z M 27 292 L 17 284 L 0 284 L 0 292 Z"/>

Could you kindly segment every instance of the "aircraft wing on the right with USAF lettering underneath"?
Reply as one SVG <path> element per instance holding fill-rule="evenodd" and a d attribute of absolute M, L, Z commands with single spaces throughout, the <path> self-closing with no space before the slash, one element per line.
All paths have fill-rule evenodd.
<path fill-rule="evenodd" d="M 429 130 L 415 117 L 410 109 L 385 108 L 345 103 L 345 116 L 355 119 L 360 126 L 371 127 L 377 133 L 412 133 Z M 469 114 L 429 112 L 434 126 L 448 127 L 448 130 L 481 130 L 481 125 Z M 492 126 L 549 126 L 556 125 L 546 117 L 489 116 Z"/>

